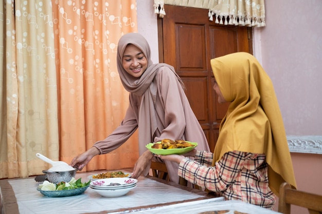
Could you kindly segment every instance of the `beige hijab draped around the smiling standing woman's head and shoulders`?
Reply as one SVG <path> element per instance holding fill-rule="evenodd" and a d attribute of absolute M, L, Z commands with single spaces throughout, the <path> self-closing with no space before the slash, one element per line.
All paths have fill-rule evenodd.
<path fill-rule="evenodd" d="M 130 75 L 126 70 L 124 70 L 122 66 L 123 53 L 127 45 L 129 44 L 138 47 L 146 56 L 148 61 L 147 70 L 139 78 Z M 168 64 L 152 63 L 150 46 L 141 34 L 127 33 L 120 38 L 117 47 L 117 69 L 124 88 L 130 93 L 142 96 L 138 118 L 138 137 L 139 142 L 146 142 L 146 144 L 148 144 L 149 142 L 153 142 L 152 137 L 157 129 L 157 120 L 154 110 L 157 85 L 154 82 L 154 77 L 158 69 L 162 66 L 169 67 L 173 71 L 173 73 L 175 73 L 174 68 Z M 181 78 L 176 73 L 175 75 L 178 81 L 183 86 Z M 151 130 L 151 133 L 147 132 L 147 130 Z M 144 151 L 144 149 L 145 148 L 140 149 L 140 154 Z"/>

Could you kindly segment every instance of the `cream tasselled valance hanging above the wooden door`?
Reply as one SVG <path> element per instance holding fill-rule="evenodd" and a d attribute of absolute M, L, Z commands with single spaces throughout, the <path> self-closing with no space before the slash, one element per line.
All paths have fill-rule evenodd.
<path fill-rule="evenodd" d="M 208 9 L 210 21 L 221 25 L 265 26 L 264 0 L 154 0 L 154 12 L 164 17 L 164 5 Z"/>

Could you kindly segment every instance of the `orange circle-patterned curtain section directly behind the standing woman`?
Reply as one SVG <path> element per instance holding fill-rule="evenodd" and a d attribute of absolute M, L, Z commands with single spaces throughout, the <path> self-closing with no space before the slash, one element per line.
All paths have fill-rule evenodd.
<path fill-rule="evenodd" d="M 129 104 L 116 67 L 119 38 L 136 32 L 136 1 L 52 1 L 55 32 L 60 160 L 105 139 Z M 117 150 L 95 157 L 84 170 L 132 167 L 136 133 Z"/>

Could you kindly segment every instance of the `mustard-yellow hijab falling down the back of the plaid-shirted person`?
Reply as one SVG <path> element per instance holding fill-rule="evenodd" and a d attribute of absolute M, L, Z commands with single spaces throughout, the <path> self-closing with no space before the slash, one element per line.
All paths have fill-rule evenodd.
<path fill-rule="evenodd" d="M 211 68 L 226 101 L 212 165 L 228 151 L 264 153 L 271 190 L 296 188 L 291 155 L 274 87 L 256 58 L 244 52 L 212 59 Z"/>

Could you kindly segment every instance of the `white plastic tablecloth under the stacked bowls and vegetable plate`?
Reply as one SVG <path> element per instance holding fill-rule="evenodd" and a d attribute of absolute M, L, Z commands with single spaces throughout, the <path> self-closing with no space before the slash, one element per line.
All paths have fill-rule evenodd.
<path fill-rule="evenodd" d="M 82 182 L 88 181 L 87 176 L 76 175 Z M 40 184 L 33 178 L 8 180 L 14 191 L 20 214 L 78 214 L 78 213 L 109 213 L 109 210 L 148 206 L 176 201 L 198 199 L 204 196 L 180 188 L 140 177 L 136 188 L 118 198 L 104 198 L 88 188 L 79 196 L 52 198 L 45 197 L 37 187 Z M 217 200 L 223 200 L 218 198 Z"/>

